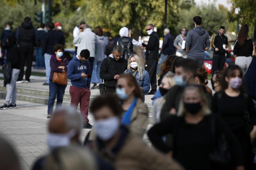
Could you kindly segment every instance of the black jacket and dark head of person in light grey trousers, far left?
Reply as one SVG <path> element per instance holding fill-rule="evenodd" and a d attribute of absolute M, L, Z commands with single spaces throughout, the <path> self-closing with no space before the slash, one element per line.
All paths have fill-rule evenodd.
<path fill-rule="evenodd" d="M 9 62 L 11 62 L 11 68 L 20 69 L 20 52 L 19 47 L 16 45 L 16 37 L 8 36 L 8 44 L 10 46 L 10 55 L 8 57 Z"/>

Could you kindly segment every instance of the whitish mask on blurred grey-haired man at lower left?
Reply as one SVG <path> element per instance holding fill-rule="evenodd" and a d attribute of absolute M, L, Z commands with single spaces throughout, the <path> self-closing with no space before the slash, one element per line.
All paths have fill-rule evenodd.
<path fill-rule="evenodd" d="M 73 138 L 75 135 L 75 129 L 70 130 L 66 134 L 48 133 L 46 137 L 46 142 L 50 150 L 52 151 L 58 147 L 69 146 L 71 143 L 70 139 Z"/>

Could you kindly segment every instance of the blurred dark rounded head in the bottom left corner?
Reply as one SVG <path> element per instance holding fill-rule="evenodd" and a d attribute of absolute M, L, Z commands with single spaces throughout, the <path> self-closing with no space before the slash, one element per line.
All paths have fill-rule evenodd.
<path fill-rule="evenodd" d="M 0 169 L 20 170 L 19 159 L 14 148 L 5 139 L 0 137 Z"/>

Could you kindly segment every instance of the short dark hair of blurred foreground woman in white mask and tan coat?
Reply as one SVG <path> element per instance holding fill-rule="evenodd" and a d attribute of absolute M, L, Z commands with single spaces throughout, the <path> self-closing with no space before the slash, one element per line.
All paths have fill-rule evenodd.
<path fill-rule="evenodd" d="M 96 112 L 104 106 L 109 107 L 113 111 L 115 116 L 122 115 L 122 108 L 121 105 L 119 105 L 119 99 L 117 96 L 106 95 L 96 97 L 91 104 L 91 112 L 94 114 L 94 112 Z"/>

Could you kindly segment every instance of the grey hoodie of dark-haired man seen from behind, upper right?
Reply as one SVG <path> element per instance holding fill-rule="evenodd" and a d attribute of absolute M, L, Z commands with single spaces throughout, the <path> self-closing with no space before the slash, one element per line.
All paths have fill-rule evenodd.
<path fill-rule="evenodd" d="M 186 48 L 190 48 L 187 58 L 204 58 L 205 47 L 210 47 L 210 36 L 201 27 L 195 27 L 187 33 Z"/>

